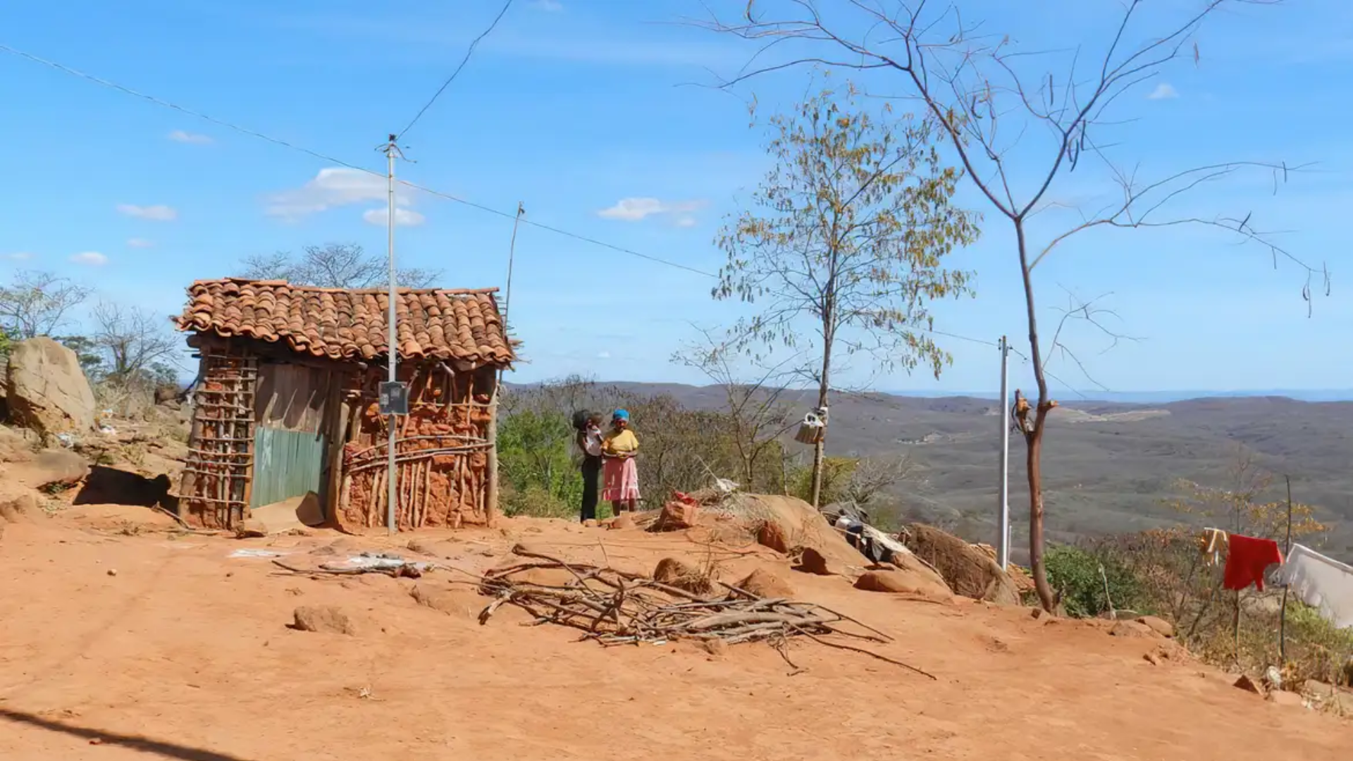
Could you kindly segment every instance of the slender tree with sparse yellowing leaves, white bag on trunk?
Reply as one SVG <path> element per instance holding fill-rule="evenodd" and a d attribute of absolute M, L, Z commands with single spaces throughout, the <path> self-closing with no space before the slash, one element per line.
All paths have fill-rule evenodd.
<path fill-rule="evenodd" d="M 760 303 L 733 328 L 733 345 L 816 344 L 817 359 L 801 372 L 816 380 L 819 408 L 838 347 L 879 367 L 924 362 L 939 376 L 950 356 L 923 333 L 934 322 L 928 302 L 969 292 L 969 274 L 940 260 L 977 238 L 977 217 L 950 203 L 961 172 L 940 165 L 934 123 L 875 119 L 852 96 L 827 91 L 771 119 L 777 165 L 754 198 L 756 211 L 731 221 L 718 241 L 728 264 L 714 298 Z M 815 506 L 824 444 L 813 450 Z"/>

